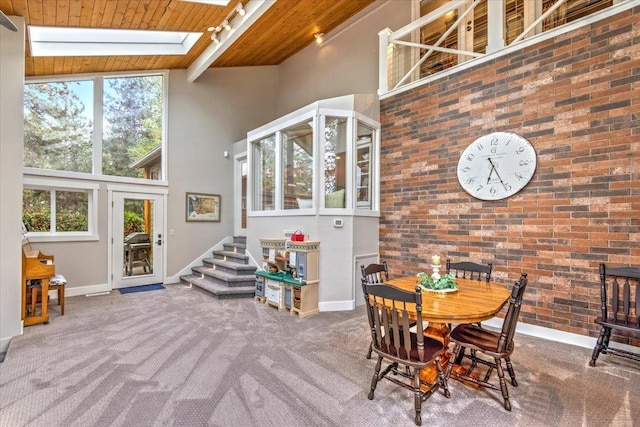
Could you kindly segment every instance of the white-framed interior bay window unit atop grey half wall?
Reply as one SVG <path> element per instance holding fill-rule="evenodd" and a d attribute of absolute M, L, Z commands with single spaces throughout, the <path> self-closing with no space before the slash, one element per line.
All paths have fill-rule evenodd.
<path fill-rule="evenodd" d="M 250 217 L 378 215 L 380 125 L 331 103 L 247 134 Z"/>

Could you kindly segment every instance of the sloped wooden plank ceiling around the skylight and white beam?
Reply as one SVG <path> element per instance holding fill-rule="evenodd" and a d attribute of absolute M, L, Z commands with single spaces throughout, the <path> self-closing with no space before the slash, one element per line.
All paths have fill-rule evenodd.
<path fill-rule="evenodd" d="M 313 43 L 315 33 L 331 32 L 374 0 L 268 1 L 276 3 L 211 67 L 278 65 Z M 0 0 L 0 10 L 24 17 L 27 26 L 204 33 L 186 55 L 34 58 L 27 32 L 25 74 L 51 76 L 188 68 L 212 43 L 207 28 L 220 25 L 239 2 L 221 7 L 181 0 Z"/>

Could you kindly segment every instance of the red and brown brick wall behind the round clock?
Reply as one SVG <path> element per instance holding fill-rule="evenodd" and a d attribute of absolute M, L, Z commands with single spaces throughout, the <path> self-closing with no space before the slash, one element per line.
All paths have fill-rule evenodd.
<path fill-rule="evenodd" d="M 640 266 L 640 7 L 381 102 L 381 257 L 493 262 L 529 287 L 521 321 L 597 336 L 598 264 Z M 510 131 L 538 154 L 500 201 L 460 187 L 458 158 Z"/>

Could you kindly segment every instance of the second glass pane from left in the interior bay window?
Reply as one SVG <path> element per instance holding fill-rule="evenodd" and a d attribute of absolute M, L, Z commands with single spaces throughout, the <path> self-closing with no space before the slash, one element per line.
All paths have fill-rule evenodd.
<path fill-rule="evenodd" d="M 284 209 L 313 206 L 312 125 L 301 123 L 282 132 Z"/>

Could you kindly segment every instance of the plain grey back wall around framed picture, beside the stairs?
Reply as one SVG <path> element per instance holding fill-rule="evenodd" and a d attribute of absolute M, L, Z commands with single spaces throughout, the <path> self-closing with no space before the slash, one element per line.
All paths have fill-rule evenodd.
<path fill-rule="evenodd" d="M 171 71 L 169 86 L 168 274 L 233 235 L 233 144 L 275 118 L 277 67 L 207 70 L 194 83 Z M 185 194 L 220 194 L 221 222 L 185 222 Z"/>

